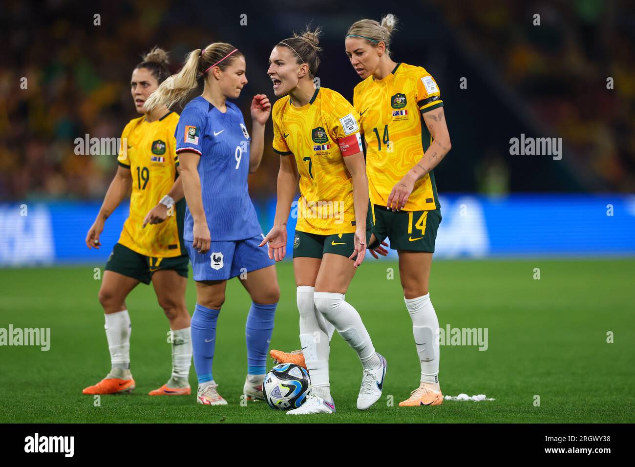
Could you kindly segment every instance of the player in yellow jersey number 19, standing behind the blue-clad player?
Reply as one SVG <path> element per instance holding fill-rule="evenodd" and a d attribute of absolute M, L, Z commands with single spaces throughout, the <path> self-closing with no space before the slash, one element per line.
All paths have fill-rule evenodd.
<path fill-rule="evenodd" d="M 102 381 L 85 388 L 84 394 L 130 393 L 135 389 L 130 373 L 131 327 L 126 297 L 138 283 L 150 281 L 170 321 L 172 345 L 172 376 L 150 395 L 190 394 L 192 344 L 185 304 L 189 259 L 183 241 L 185 201 L 177 178 L 174 137 L 178 114 L 165 106 L 152 112 L 144 107 L 150 94 L 170 76 L 167 58 L 165 51 L 154 48 L 132 72 L 131 94 L 142 116 L 132 119 L 123 130 L 117 173 L 86 235 L 86 246 L 99 248 L 105 220 L 131 193 L 130 215 L 106 263 L 99 290 L 112 369 Z M 148 222 L 158 225 L 148 226 Z"/>

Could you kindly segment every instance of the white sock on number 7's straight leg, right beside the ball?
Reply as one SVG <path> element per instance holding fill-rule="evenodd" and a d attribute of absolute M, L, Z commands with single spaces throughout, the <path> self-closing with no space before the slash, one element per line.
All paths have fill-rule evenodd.
<path fill-rule="evenodd" d="M 314 287 L 300 285 L 297 288 L 298 311 L 300 311 L 300 345 L 304 361 L 311 376 L 311 390 L 326 400 L 331 400 L 328 381 L 328 355 L 330 353 L 330 335 L 323 316 L 313 301 Z M 331 335 L 333 335 L 333 325 Z"/>

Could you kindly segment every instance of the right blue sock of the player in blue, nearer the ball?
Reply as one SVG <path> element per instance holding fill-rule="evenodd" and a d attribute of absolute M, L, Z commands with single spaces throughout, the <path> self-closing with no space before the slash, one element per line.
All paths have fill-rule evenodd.
<path fill-rule="evenodd" d="M 274 332 L 274 315 L 277 303 L 261 305 L 251 302 L 245 338 L 247 341 L 247 374 L 262 375 L 267 372 L 267 350 Z"/>

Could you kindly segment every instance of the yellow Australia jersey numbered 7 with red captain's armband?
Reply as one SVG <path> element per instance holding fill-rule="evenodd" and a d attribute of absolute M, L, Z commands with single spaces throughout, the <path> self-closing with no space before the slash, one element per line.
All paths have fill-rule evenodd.
<path fill-rule="evenodd" d="M 293 154 L 300 173 L 296 229 L 354 232 L 353 184 L 344 157 L 363 151 L 358 112 L 340 93 L 318 88 L 304 107 L 292 105 L 290 96 L 280 98 L 272 114 L 274 151 Z"/>

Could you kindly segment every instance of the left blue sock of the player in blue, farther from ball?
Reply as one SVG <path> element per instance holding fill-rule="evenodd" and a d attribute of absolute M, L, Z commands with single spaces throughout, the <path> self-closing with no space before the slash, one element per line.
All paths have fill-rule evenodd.
<path fill-rule="evenodd" d="M 194 354 L 194 368 L 199 383 L 214 379 L 211 376 L 211 365 L 214 361 L 218 313 L 220 313 L 220 309 L 206 308 L 196 304 L 194 315 L 192 315 L 190 323 L 192 353 Z"/>

